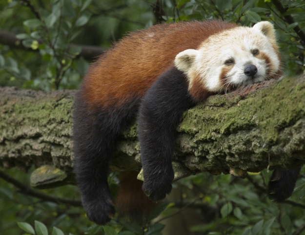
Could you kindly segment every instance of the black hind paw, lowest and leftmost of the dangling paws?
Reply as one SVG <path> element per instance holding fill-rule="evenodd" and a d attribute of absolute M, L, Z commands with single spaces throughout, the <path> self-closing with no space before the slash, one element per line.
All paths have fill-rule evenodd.
<path fill-rule="evenodd" d="M 96 224 L 105 225 L 114 217 L 115 209 L 112 199 L 108 200 L 107 202 L 99 201 L 94 203 L 91 202 L 87 205 L 85 205 L 85 203 L 83 204 L 86 210 L 87 218 Z"/>

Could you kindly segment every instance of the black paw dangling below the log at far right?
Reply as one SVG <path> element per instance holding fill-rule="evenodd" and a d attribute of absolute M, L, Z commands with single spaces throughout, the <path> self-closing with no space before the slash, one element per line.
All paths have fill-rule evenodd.
<path fill-rule="evenodd" d="M 268 196 L 271 201 L 283 202 L 291 196 L 301 168 L 289 171 L 274 170 L 268 185 Z"/>

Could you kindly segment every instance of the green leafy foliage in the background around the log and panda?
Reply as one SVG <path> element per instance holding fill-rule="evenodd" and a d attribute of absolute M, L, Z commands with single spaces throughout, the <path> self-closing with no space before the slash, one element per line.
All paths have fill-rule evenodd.
<path fill-rule="evenodd" d="M 14 46 L 0 44 L 0 85 L 46 91 L 76 88 L 90 63 L 80 56 L 81 44 L 109 47 L 126 32 L 157 21 L 202 19 L 248 26 L 262 20 L 273 22 L 283 70 L 288 75 L 300 74 L 304 70 L 305 42 L 300 32 L 305 32 L 305 3 L 282 0 L 281 4 L 284 14 L 272 0 L 0 0 L 1 29 L 18 39 Z M 287 23 L 286 16 L 294 22 Z M 296 32 L 296 27 L 301 31 Z M 29 174 L 17 169 L 7 172 L 28 184 Z M 267 199 L 270 173 L 266 170 L 245 180 L 224 174 L 192 175 L 174 183 L 173 196 L 156 208 L 151 221 L 139 224 L 116 215 L 106 226 L 88 221 L 82 208 L 45 202 L 0 181 L 0 234 L 161 235 L 165 230 L 166 234 L 179 230 L 194 235 L 305 234 L 304 173 L 290 200 L 283 204 Z M 115 174 L 109 181 L 115 193 Z M 43 192 L 80 200 L 75 186 Z M 177 217 L 187 210 L 192 211 L 191 222 L 185 222 L 186 218 L 180 224 L 168 222 L 173 214 Z"/>

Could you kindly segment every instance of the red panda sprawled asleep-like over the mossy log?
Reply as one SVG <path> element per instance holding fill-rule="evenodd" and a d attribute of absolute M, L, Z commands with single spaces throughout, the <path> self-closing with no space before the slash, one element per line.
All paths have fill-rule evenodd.
<path fill-rule="evenodd" d="M 75 173 L 87 217 L 105 224 L 115 214 L 108 165 L 132 117 L 138 116 L 142 190 L 162 200 L 172 188 L 173 141 L 183 111 L 215 92 L 280 75 L 275 30 L 267 21 L 251 28 L 224 21 L 160 24 L 123 38 L 91 65 L 76 96 Z M 293 187 L 298 171 L 289 178 Z M 293 187 L 283 192 L 288 174 L 276 172 L 269 195 L 281 201 Z"/>

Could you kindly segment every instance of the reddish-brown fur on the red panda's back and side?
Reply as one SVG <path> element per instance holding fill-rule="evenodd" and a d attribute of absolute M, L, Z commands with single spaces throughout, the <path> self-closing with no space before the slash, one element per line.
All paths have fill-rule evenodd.
<path fill-rule="evenodd" d="M 173 65 L 179 52 L 197 49 L 210 35 L 236 26 L 223 21 L 180 22 L 152 26 L 126 36 L 91 66 L 83 82 L 87 106 L 120 107 L 130 99 L 142 97 Z"/>

